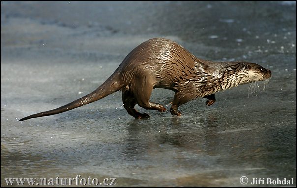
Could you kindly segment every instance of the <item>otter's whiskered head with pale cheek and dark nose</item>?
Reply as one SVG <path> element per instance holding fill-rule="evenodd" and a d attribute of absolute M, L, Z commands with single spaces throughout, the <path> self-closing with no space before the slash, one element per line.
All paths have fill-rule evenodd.
<path fill-rule="evenodd" d="M 238 73 L 242 76 L 239 84 L 266 80 L 271 77 L 271 71 L 255 63 L 242 63 Z"/>

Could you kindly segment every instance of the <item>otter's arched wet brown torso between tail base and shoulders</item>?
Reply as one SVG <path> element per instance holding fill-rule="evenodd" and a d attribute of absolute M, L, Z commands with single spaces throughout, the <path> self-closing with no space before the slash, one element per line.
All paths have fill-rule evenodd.
<path fill-rule="evenodd" d="M 197 62 L 200 60 L 176 42 L 153 38 L 134 48 L 119 68 L 127 81 L 148 73 L 154 76 L 157 87 L 171 87 L 180 78 L 193 75 Z"/>

